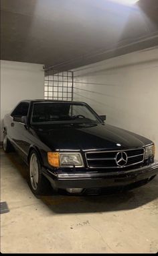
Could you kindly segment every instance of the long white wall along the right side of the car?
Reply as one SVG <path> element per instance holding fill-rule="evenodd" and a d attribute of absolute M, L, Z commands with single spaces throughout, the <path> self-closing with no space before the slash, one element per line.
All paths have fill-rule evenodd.
<path fill-rule="evenodd" d="M 155 141 L 158 158 L 158 49 L 74 70 L 74 100 L 90 104 L 107 123 Z"/>

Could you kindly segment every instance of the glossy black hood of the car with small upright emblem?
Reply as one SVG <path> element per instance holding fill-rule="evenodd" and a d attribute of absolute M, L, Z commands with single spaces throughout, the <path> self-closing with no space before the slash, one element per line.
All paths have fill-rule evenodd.
<path fill-rule="evenodd" d="M 107 124 L 35 125 L 35 135 L 50 150 L 99 150 L 138 148 L 151 140 Z"/>

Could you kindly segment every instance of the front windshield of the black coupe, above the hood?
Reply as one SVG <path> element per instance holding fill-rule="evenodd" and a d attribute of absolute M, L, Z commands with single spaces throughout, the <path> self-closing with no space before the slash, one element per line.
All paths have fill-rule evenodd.
<path fill-rule="evenodd" d="M 101 123 L 86 104 L 73 102 L 37 102 L 33 104 L 31 124 Z"/>

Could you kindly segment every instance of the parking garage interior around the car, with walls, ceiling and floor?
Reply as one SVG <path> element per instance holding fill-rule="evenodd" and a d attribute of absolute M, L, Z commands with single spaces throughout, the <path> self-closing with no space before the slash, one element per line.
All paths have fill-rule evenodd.
<path fill-rule="evenodd" d="M 21 100 L 83 101 L 154 141 L 158 159 L 158 1 L 129 2 L 1 0 L 1 141 Z M 27 176 L 1 149 L 1 253 L 157 253 L 158 177 L 126 193 L 35 197 Z"/>

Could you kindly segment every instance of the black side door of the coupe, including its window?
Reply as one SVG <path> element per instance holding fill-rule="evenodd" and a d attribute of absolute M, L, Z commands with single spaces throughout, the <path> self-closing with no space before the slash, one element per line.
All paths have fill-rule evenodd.
<path fill-rule="evenodd" d="M 30 142 L 27 139 L 29 130 L 27 125 L 21 122 L 22 116 L 27 116 L 29 110 L 29 102 L 21 102 L 13 110 L 11 114 L 11 139 L 14 143 L 15 148 L 23 158 L 27 158 Z"/>

